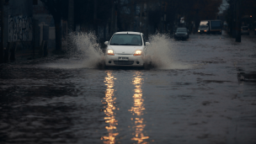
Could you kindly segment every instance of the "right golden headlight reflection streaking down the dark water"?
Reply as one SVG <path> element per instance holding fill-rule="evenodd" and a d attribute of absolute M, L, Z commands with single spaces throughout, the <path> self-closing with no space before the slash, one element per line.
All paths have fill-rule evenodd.
<path fill-rule="evenodd" d="M 144 99 L 142 99 L 142 89 L 141 89 L 141 84 L 143 81 L 143 78 L 141 77 L 141 72 L 136 72 L 135 78 L 132 81 L 132 83 L 135 85 L 134 89 L 134 104 L 133 107 L 129 111 L 131 111 L 132 115 L 134 115 L 131 120 L 134 120 L 134 125 L 132 126 L 132 129 L 135 130 L 135 133 L 133 135 L 131 140 L 132 141 L 137 141 L 137 143 L 143 143 L 146 144 L 147 141 L 146 139 L 149 138 L 149 136 L 144 136 L 143 131 L 145 128 L 145 122 L 143 123 L 143 118 L 141 117 L 143 114 L 143 111 L 145 110 L 144 108 Z"/>

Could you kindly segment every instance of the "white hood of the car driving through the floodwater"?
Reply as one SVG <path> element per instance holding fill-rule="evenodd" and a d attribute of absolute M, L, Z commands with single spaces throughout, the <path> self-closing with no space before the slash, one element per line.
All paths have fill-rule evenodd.
<path fill-rule="evenodd" d="M 113 50 L 116 54 L 134 54 L 136 50 L 143 50 L 143 46 L 109 45 L 108 49 Z"/>

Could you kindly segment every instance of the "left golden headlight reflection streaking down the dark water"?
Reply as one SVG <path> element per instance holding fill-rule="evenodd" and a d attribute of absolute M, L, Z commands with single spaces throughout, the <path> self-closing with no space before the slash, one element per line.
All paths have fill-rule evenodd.
<path fill-rule="evenodd" d="M 104 110 L 105 117 L 104 120 L 109 126 L 106 126 L 105 129 L 109 132 L 108 136 L 101 137 L 101 140 L 104 140 L 106 144 L 114 144 L 115 136 L 119 135 L 116 132 L 116 125 L 118 125 L 118 120 L 115 120 L 115 97 L 114 97 L 114 77 L 112 72 L 107 72 L 107 77 L 105 77 L 105 85 L 108 86 L 105 93 L 105 98 L 103 104 L 107 104 L 106 109 Z"/>

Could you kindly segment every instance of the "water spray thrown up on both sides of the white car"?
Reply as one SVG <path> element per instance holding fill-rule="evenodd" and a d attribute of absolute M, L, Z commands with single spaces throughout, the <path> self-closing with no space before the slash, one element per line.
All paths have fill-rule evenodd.
<path fill-rule="evenodd" d="M 69 59 L 47 64 L 51 68 L 102 68 L 104 53 L 97 36 L 93 32 L 72 32 L 68 35 Z M 173 40 L 167 34 L 150 35 L 151 45 L 147 46 L 146 63 L 152 62 L 157 69 L 187 69 L 188 66 L 174 61 L 176 49 Z"/>

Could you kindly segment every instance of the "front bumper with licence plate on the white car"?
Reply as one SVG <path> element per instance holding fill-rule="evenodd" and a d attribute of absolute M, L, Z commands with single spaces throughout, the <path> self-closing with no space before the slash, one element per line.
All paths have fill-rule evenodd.
<path fill-rule="evenodd" d="M 120 57 L 125 57 L 125 59 L 120 60 Z M 143 64 L 144 64 L 143 56 L 118 55 L 118 54 L 115 54 L 115 56 L 111 56 L 111 55 L 105 56 L 105 66 L 143 67 Z"/>

